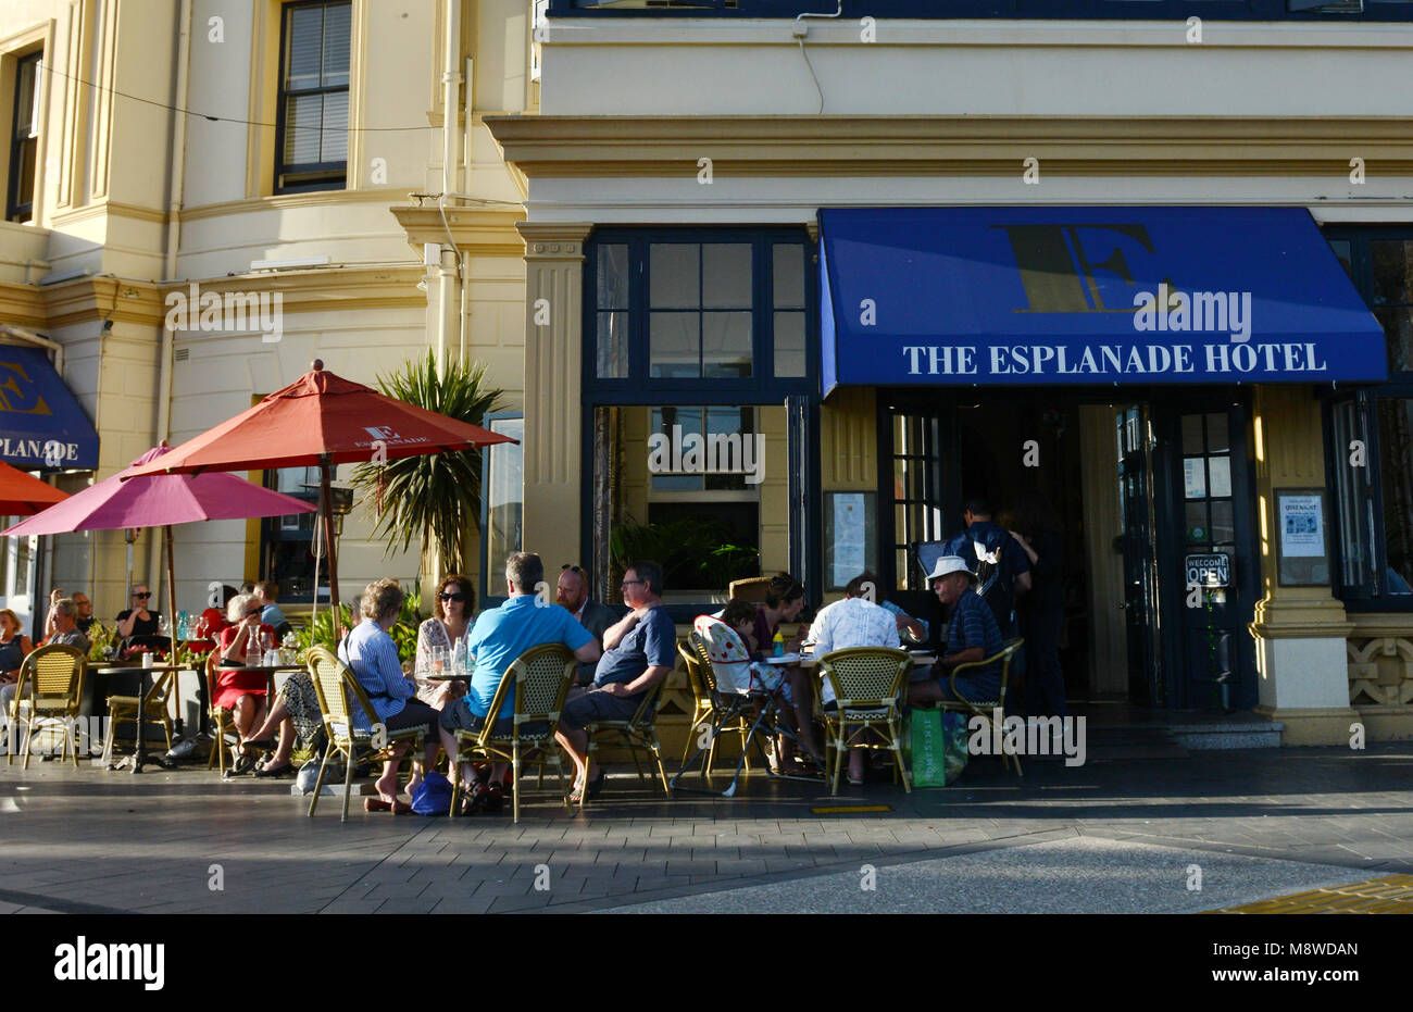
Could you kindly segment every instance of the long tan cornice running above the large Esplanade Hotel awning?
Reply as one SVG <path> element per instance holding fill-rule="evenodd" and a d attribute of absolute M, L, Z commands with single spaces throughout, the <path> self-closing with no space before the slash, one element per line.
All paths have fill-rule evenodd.
<path fill-rule="evenodd" d="M 1413 117 L 486 116 L 531 178 L 1413 175 Z"/>

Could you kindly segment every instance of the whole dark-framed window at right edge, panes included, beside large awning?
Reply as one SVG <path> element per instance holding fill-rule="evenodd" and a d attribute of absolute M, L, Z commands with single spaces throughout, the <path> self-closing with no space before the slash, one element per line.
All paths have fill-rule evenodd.
<path fill-rule="evenodd" d="M 1332 232 L 1330 246 L 1383 325 L 1389 382 L 1330 400 L 1338 589 L 1413 609 L 1413 230 Z"/>

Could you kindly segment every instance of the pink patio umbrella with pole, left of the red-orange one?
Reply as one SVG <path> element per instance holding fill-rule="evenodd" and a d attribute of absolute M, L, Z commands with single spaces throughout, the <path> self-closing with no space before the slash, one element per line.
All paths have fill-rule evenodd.
<path fill-rule="evenodd" d="M 168 618 L 175 623 L 177 572 L 172 564 L 171 527 L 174 523 L 312 513 L 315 506 L 222 472 L 144 475 L 124 481 L 138 466 L 170 451 L 171 447 L 164 441 L 160 447 L 153 447 L 133 461 L 126 471 L 76 492 L 64 502 L 42 513 L 35 513 L 28 520 L 21 520 L 3 533 L 7 537 L 20 537 L 24 534 L 71 534 L 78 530 L 162 527 L 165 530 Z M 172 632 L 177 632 L 175 626 Z M 138 734 L 134 773 L 143 767 L 143 736 Z"/>

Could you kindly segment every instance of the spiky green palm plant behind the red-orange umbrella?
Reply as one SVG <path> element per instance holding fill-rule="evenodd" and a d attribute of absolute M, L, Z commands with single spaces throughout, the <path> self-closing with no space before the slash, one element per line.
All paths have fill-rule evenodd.
<path fill-rule="evenodd" d="M 377 386 L 389 397 L 472 425 L 502 407 L 504 396 L 486 383 L 480 363 L 449 362 L 438 376 L 431 349 L 427 358 L 380 376 Z M 445 571 L 465 571 L 469 531 L 480 527 L 480 449 L 360 464 L 353 483 L 363 493 L 362 502 L 373 502 L 389 553 L 394 546 L 407 551 L 415 541 L 425 557 L 435 544 Z"/>

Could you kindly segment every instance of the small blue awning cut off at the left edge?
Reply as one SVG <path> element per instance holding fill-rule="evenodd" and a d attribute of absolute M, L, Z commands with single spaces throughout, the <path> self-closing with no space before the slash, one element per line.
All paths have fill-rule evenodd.
<path fill-rule="evenodd" d="M 21 471 L 93 471 L 97 433 L 38 348 L 0 345 L 0 459 Z"/>

